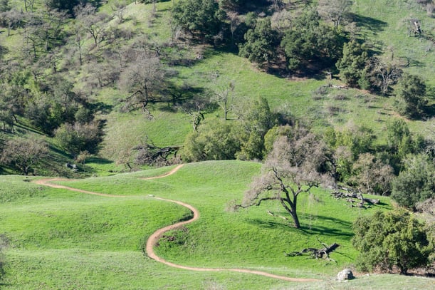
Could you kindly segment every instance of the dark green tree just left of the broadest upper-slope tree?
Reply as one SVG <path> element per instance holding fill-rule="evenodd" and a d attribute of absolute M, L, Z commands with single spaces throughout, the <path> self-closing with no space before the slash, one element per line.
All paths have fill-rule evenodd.
<path fill-rule="evenodd" d="M 277 31 L 272 29 L 270 18 L 258 20 L 255 28 L 246 32 L 245 41 L 240 46 L 239 55 L 249 61 L 262 66 L 265 62 L 268 65 L 276 57 L 279 38 Z"/>

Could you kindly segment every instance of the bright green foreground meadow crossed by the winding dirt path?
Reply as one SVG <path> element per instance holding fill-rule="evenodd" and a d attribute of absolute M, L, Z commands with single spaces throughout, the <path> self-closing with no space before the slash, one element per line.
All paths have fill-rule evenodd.
<path fill-rule="evenodd" d="M 377 289 L 434 281 L 411 277 L 361 277 L 347 285 L 332 281 L 343 266 L 351 266 L 356 252 L 350 245 L 351 223 L 360 214 L 389 209 L 388 198 L 367 210 L 352 209 L 319 190 L 300 200 L 303 229 L 295 230 L 266 214 L 282 213 L 277 204 L 241 212 L 226 212 L 226 204 L 240 200 L 259 165 L 252 162 L 201 162 L 185 165 L 174 175 L 140 180 L 168 168 L 133 174 L 61 182 L 83 190 L 127 197 L 98 197 L 41 187 L 22 177 L 1 177 L 0 228 L 9 239 L 2 289 L 355 289 L 377 283 Z M 20 192 L 17 197 L 17 192 Z M 130 196 L 131 197 L 128 197 Z M 153 200 L 150 195 L 182 200 L 199 209 L 200 219 L 163 239 L 157 253 L 186 266 L 247 268 L 322 282 L 293 284 L 250 274 L 204 273 L 147 259 L 142 244 L 159 227 L 189 216 L 184 207 Z M 283 213 L 282 213 L 283 214 Z M 283 252 L 317 247 L 317 238 L 337 242 L 337 261 L 285 257 Z M 387 282 L 388 281 L 388 282 Z M 350 288 L 347 288 L 350 287 Z"/>

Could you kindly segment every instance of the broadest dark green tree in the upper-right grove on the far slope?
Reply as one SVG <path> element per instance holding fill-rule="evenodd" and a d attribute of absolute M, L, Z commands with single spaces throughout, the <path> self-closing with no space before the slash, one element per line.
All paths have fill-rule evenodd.
<path fill-rule="evenodd" d="M 322 24 L 318 12 L 311 10 L 294 19 L 281 46 L 290 70 L 302 68 L 309 61 L 330 66 L 342 54 L 343 38 L 336 29 Z"/>

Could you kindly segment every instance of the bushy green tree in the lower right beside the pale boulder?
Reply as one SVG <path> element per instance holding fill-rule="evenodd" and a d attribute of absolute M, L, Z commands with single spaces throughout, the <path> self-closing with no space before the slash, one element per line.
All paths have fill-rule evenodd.
<path fill-rule="evenodd" d="M 354 223 L 354 247 L 360 251 L 357 266 L 362 271 L 379 268 L 392 271 L 393 266 L 407 274 L 409 269 L 428 264 L 434 251 L 425 224 L 409 212 L 377 212 L 359 217 Z"/>

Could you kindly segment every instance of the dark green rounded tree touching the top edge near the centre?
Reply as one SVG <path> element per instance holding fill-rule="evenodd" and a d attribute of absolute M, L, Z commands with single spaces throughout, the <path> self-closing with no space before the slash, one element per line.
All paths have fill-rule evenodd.
<path fill-rule="evenodd" d="M 172 15 L 182 29 L 205 41 L 211 41 L 221 29 L 221 10 L 214 0 L 180 0 Z"/>

